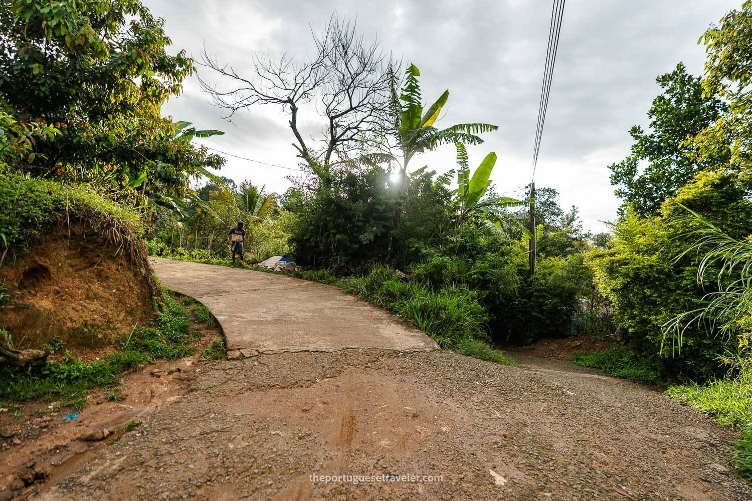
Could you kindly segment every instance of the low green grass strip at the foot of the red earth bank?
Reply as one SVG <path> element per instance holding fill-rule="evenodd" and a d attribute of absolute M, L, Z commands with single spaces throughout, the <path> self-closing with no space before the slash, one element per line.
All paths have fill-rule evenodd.
<path fill-rule="evenodd" d="M 196 352 L 193 338 L 188 335 L 189 313 L 167 291 L 157 305 L 153 327 L 133 330 L 117 352 L 99 361 L 73 358 L 65 350 L 62 357 L 47 361 L 42 367 L 26 370 L 0 370 L 0 402 L 18 403 L 26 400 L 59 400 L 59 406 L 80 409 L 86 394 L 93 388 L 113 388 L 126 370 L 138 369 L 157 359 L 175 360 Z M 56 351 L 62 351 L 58 346 Z M 108 395 L 115 398 L 115 393 Z"/>

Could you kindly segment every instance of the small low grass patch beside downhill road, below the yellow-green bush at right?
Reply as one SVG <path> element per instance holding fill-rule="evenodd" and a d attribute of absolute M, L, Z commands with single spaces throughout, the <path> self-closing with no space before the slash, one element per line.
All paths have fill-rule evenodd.
<path fill-rule="evenodd" d="M 644 385 L 663 385 L 660 375 L 650 361 L 641 358 L 627 346 L 609 346 L 602 352 L 575 355 L 572 362 L 581 367 L 593 367 L 617 378 L 629 379 Z"/>

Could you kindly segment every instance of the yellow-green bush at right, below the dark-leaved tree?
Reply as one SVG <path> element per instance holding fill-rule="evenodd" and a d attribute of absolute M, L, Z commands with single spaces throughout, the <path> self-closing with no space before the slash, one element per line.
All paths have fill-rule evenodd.
<path fill-rule="evenodd" d="M 693 324 L 683 332 L 683 346 L 663 344 L 663 328 L 676 315 L 696 309 L 697 301 L 717 290 L 714 281 L 697 284 L 702 255 L 684 253 L 696 237 L 690 222 L 677 219 L 676 203 L 701 213 L 732 237 L 752 233 L 752 179 L 704 172 L 663 204 L 659 216 L 643 219 L 628 212 L 614 225 L 607 249 L 587 258 L 599 291 L 611 301 L 626 327 L 629 343 L 647 358 L 660 361 L 669 378 L 705 379 L 723 374 L 718 353 L 735 348 L 712 324 Z M 708 273 L 715 276 L 716 273 Z"/>

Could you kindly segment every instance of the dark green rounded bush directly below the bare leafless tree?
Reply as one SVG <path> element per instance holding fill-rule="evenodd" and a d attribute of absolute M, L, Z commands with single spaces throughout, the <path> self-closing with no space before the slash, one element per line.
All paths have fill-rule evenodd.
<path fill-rule="evenodd" d="M 295 261 L 337 272 L 363 270 L 378 261 L 404 267 L 426 244 L 441 239 L 450 194 L 430 177 L 395 186 L 382 168 L 332 172 L 312 189 L 291 189 L 283 198 L 290 213 Z"/>

